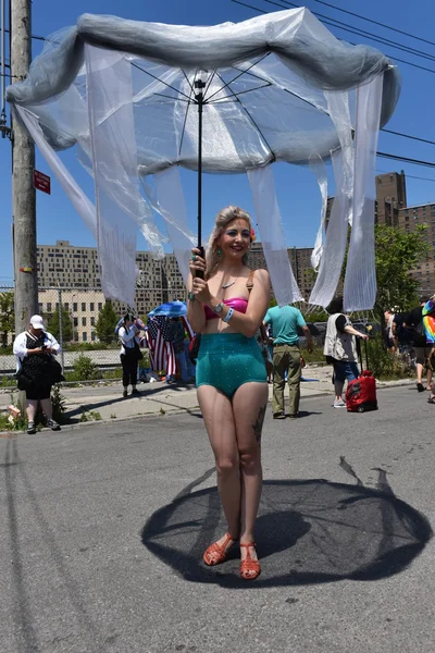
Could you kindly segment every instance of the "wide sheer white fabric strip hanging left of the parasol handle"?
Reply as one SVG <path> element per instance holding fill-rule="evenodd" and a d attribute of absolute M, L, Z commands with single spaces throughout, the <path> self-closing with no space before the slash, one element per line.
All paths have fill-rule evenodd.
<path fill-rule="evenodd" d="M 110 114 L 122 98 L 132 96 L 130 66 L 116 52 L 85 49 L 101 287 L 107 298 L 134 306 L 137 223 L 133 217 L 139 214 L 141 197 L 133 107 L 127 103 Z"/>

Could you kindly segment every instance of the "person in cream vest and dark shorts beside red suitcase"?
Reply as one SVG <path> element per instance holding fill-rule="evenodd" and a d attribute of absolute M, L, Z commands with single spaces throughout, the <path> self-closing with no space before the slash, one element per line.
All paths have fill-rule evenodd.
<path fill-rule="evenodd" d="M 357 344 L 355 336 L 369 340 L 365 333 L 353 329 L 349 316 L 343 312 L 343 297 L 333 299 L 327 307 L 330 317 L 326 324 L 323 354 L 326 362 L 334 368 L 333 383 L 335 389 L 334 408 L 346 408 L 343 401 L 345 380 L 353 381 L 360 375 L 357 365 Z"/>

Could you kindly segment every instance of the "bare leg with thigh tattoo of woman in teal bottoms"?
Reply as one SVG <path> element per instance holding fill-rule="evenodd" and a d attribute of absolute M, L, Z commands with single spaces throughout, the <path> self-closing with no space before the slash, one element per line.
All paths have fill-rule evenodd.
<path fill-rule="evenodd" d="M 254 525 L 262 489 L 261 430 L 268 405 L 265 383 L 245 383 L 233 397 L 234 420 L 240 457 L 241 502 L 240 543 L 254 541 Z M 241 559 L 248 554 L 257 558 L 253 549 L 241 549 Z"/>

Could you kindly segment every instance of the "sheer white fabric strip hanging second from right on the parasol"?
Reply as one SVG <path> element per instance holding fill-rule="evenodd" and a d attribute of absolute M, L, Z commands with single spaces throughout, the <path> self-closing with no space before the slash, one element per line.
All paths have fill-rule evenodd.
<path fill-rule="evenodd" d="M 326 307 L 337 288 L 345 260 L 348 221 L 351 211 L 351 196 L 344 193 L 346 182 L 343 171 L 343 150 L 332 155 L 335 185 L 338 189 L 327 223 L 325 244 L 320 261 L 319 274 L 310 295 L 310 304 Z"/>

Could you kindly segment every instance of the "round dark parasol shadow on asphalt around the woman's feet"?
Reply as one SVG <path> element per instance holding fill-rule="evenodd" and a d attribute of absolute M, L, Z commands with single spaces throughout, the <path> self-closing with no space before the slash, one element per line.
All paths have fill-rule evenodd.
<path fill-rule="evenodd" d="M 214 469 L 149 518 L 142 543 L 185 580 L 226 588 L 387 578 L 411 564 L 432 529 L 378 471 L 377 490 L 323 479 L 266 481 L 256 527 L 262 574 L 252 583 L 238 575 L 237 546 L 222 565 L 202 563 L 207 546 L 226 530 L 216 489 L 192 492 Z"/>

